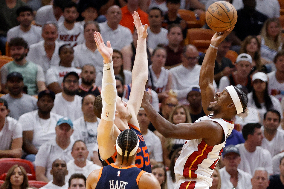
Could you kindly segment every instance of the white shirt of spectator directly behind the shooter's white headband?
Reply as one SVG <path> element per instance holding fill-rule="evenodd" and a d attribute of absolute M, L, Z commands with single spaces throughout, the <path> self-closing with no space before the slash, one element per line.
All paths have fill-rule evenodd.
<path fill-rule="evenodd" d="M 248 109 L 248 116 L 246 116 L 245 118 L 240 117 L 238 115 L 235 116 L 234 124 L 239 125 L 241 130 L 242 127 L 244 127 L 244 125 L 246 125 L 247 123 L 260 122 L 259 112 L 253 107 L 247 107 L 247 109 Z"/>

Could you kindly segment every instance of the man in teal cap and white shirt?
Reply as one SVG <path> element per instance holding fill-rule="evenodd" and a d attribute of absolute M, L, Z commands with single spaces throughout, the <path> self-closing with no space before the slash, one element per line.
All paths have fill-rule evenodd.
<path fill-rule="evenodd" d="M 71 119 L 67 117 L 59 119 L 55 127 L 55 133 L 56 137 L 41 145 L 36 154 L 34 162 L 36 166 L 36 180 L 49 182 L 54 179 L 51 171 L 54 166 L 54 160 L 62 158 L 65 162 L 69 162 L 73 159 L 71 151 L 74 141 L 70 138 L 73 133 Z M 67 174 L 68 172 L 65 175 Z M 65 175 L 63 177 L 64 182 Z"/>

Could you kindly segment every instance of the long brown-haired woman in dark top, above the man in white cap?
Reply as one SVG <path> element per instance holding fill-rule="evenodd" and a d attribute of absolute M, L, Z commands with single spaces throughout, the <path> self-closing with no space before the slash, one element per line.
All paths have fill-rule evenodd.
<path fill-rule="evenodd" d="M 250 75 L 257 71 L 266 72 L 267 70 L 265 64 L 268 64 L 269 62 L 261 57 L 260 47 L 261 44 L 256 36 L 247 36 L 242 43 L 240 54 L 246 53 L 251 55 L 252 58 L 253 67 Z"/>

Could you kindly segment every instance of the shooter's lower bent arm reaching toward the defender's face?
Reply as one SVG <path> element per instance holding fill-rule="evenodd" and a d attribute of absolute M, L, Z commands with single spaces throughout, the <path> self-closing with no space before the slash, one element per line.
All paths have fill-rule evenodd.
<path fill-rule="evenodd" d="M 162 117 L 149 102 L 150 95 L 145 91 L 142 101 L 147 117 L 153 126 L 166 138 L 174 139 L 204 139 L 207 145 L 214 146 L 221 144 L 224 133 L 221 125 L 210 120 L 199 121 L 197 123 L 172 124 Z M 206 132 L 204 132 L 206 130 Z"/>

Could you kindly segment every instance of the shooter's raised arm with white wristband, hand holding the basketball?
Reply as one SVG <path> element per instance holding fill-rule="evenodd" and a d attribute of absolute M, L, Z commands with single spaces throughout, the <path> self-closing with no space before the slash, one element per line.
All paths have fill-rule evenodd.
<path fill-rule="evenodd" d="M 229 35 L 229 33 L 232 30 L 233 28 L 231 30 L 225 31 L 224 33 L 214 34 L 214 36 L 211 39 L 210 47 L 206 51 L 205 57 L 201 65 L 199 86 L 201 90 L 202 106 L 206 115 L 210 114 L 210 112 L 207 110 L 207 107 L 210 102 L 214 102 L 214 96 L 215 96 L 213 80 L 214 80 L 214 67 L 217 55 L 217 48 L 219 44 L 227 37 L 227 35 Z"/>

